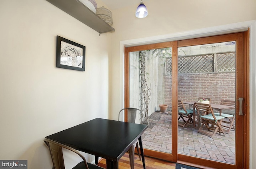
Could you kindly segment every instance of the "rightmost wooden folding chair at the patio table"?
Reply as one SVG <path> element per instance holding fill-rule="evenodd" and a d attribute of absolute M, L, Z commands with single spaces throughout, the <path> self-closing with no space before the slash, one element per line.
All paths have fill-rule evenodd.
<path fill-rule="evenodd" d="M 228 105 L 228 106 L 234 106 L 234 108 L 230 108 L 230 109 L 233 109 L 235 110 L 235 106 L 236 106 L 236 101 L 234 100 L 221 100 L 220 104 L 222 105 Z M 233 111 L 230 111 L 230 112 L 226 112 L 226 113 L 214 113 L 215 115 L 218 115 L 218 116 L 223 116 L 224 118 L 228 119 L 228 121 L 224 121 L 222 120 L 222 127 L 224 128 L 228 128 L 227 130 L 226 129 L 223 129 L 225 132 L 227 132 L 227 134 L 230 132 L 231 129 L 235 129 L 235 126 L 234 126 L 234 121 L 235 121 L 235 112 Z"/>

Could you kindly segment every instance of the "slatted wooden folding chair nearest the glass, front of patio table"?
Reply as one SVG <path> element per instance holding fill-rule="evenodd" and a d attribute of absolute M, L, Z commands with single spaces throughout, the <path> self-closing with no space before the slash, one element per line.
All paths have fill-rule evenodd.
<path fill-rule="evenodd" d="M 224 119 L 224 117 L 214 115 L 211 104 L 204 104 L 199 102 L 195 102 L 194 104 L 195 104 L 196 111 L 202 120 L 202 125 L 198 129 L 198 132 L 206 134 L 211 138 L 216 134 L 216 132 L 223 133 L 225 136 L 224 130 L 222 129 L 222 126 L 221 126 L 221 122 L 222 122 L 222 119 Z M 203 131 L 202 128 L 204 125 L 209 131 L 213 130 L 214 132 L 210 134 L 208 132 Z"/>

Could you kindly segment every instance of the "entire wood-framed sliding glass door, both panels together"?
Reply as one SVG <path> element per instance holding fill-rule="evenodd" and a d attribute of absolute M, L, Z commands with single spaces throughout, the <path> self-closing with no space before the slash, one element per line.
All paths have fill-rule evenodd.
<path fill-rule="evenodd" d="M 144 112 L 143 122 L 148 124 L 142 136 L 146 155 L 208 167 L 244 165 L 248 147 L 248 136 L 244 135 L 248 120 L 244 116 L 248 102 L 246 38 L 247 32 L 243 32 L 126 47 L 125 106 Z M 217 106 L 213 109 L 216 116 L 221 111 L 233 117 L 223 119 L 222 124 L 228 126 L 221 127 L 224 133 L 208 136 L 198 132 L 202 121 L 189 103 L 200 99 Z M 178 100 L 184 103 L 183 108 Z M 222 100 L 231 100 L 234 108 L 219 109 Z M 160 110 L 160 104 L 167 105 L 167 110 Z M 191 119 L 180 117 L 184 109 L 192 111 Z M 213 133 L 205 125 L 202 130 Z"/>

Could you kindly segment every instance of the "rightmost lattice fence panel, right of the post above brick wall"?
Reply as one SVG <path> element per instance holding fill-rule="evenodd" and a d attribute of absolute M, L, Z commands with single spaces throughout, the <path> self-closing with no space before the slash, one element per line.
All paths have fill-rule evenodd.
<path fill-rule="evenodd" d="M 236 71 L 236 53 L 217 53 L 217 72 L 234 72 Z"/>

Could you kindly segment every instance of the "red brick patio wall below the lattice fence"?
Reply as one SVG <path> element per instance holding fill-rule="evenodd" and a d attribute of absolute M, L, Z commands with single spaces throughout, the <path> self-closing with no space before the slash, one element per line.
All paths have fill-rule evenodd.
<path fill-rule="evenodd" d="M 164 76 L 164 101 L 172 105 L 172 76 Z M 235 100 L 235 73 L 204 73 L 178 75 L 178 99 L 196 101 L 198 97 Z"/>

